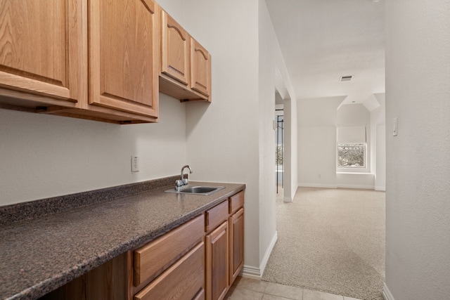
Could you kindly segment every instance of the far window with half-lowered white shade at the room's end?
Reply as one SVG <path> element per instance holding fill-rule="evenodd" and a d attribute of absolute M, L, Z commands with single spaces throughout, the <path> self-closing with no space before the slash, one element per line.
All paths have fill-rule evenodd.
<path fill-rule="evenodd" d="M 366 168 L 366 126 L 338 126 L 338 168 Z"/>

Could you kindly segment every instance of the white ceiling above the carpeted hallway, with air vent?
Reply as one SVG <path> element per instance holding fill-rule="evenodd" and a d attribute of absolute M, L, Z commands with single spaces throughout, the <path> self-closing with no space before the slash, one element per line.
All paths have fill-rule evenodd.
<path fill-rule="evenodd" d="M 385 92 L 384 1 L 266 0 L 295 96 L 370 102 Z M 351 81 L 341 76 L 353 75 Z"/>

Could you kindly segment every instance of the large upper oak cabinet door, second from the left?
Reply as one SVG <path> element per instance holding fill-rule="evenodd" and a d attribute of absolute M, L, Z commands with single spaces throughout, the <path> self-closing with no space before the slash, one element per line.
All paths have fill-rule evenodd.
<path fill-rule="evenodd" d="M 158 117 L 158 5 L 89 1 L 89 103 Z"/>

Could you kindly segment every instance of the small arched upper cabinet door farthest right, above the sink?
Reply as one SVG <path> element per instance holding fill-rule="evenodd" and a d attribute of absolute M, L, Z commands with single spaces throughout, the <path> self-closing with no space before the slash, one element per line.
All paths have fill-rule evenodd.
<path fill-rule="evenodd" d="M 202 45 L 191 38 L 191 89 L 211 94 L 211 56 Z"/>

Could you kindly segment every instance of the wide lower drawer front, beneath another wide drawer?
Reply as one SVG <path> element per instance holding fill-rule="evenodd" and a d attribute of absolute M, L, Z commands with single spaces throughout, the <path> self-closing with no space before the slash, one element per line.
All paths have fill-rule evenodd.
<path fill-rule="evenodd" d="M 134 300 L 194 299 L 205 288 L 205 244 L 188 254 L 134 296 Z M 199 298 L 196 298 L 199 299 Z M 201 298 L 200 298 L 201 299 Z"/>

